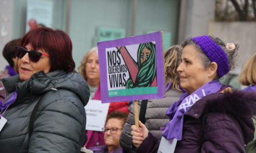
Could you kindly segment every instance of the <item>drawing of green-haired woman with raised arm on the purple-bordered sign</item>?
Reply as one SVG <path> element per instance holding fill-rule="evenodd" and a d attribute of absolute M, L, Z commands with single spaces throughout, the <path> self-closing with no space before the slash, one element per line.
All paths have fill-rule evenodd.
<path fill-rule="evenodd" d="M 123 60 L 129 71 L 130 78 L 126 88 L 157 86 L 157 66 L 155 60 L 155 44 L 140 43 L 137 51 L 137 62 L 133 60 L 125 46 L 120 48 Z"/>

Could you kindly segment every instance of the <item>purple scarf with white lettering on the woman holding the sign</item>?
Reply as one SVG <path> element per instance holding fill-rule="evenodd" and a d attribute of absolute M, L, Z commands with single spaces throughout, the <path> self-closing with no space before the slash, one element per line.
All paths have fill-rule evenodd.
<path fill-rule="evenodd" d="M 191 94 L 187 92 L 183 93 L 180 96 L 180 100 L 171 105 L 166 111 L 166 115 L 169 116 L 170 121 L 166 124 L 162 136 L 165 137 L 165 139 L 168 139 L 170 143 L 172 143 L 173 138 L 182 140 L 183 115 L 190 110 L 195 102 L 208 94 L 218 92 L 221 87 L 222 84 L 219 83 L 218 80 L 214 80 L 205 83 L 205 85 L 201 86 L 201 88 L 195 90 L 195 92 Z M 180 105 L 178 105 L 179 103 Z"/>

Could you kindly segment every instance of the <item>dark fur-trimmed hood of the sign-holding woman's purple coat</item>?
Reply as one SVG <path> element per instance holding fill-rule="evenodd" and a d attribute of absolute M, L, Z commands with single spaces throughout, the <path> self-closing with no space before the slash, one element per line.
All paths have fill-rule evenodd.
<path fill-rule="evenodd" d="M 256 114 L 256 93 L 234 90 L 232 93 L 212 93 L 202 97 L 186 113 L 194 118 L 200 118 L 204 112 L 223 112 L 230 114 L 236 120 L 244 134 L 244 142 L 248 143 L 254 137 L 254 123 L 251 119 Z"/>

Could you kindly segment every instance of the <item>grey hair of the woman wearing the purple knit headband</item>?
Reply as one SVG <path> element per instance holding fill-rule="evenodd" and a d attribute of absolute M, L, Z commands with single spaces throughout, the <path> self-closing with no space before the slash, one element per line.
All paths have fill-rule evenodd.
<path fill-rule="evenodd" d="M 211 37 L 211 36 L 209 36 Z M 229 50 L 226 48 L 226 43 L 224 43 L 220 38 L 218 37 L 211 37 L 212 40 L 217 43 L 223 50 L 224 52 L 226 53 L 227 55 L 227 60 L 229 61 L 229 67 L 230 67 L 230 70 L 229 71 L 232 71 L 234 70 L 234 68 L 236 68 L 236 64 L 237 64 L 237 60 L 238 60 L 238 57 L 239 57 L 239 44 L 238 43 L 234 43 L 235 45 L 235 48 L 233 50 Z M 209 65 L 211 64 L 211 61 L 209 60 L 209 58 L 204 54 L 204 52 L 202 52 L 200 46 L 197 45 L 197 43 L 195 43 L 193 41 L 193 39 L 191 38 L 187 38 L 185 39 L 183 42 L 182 42 L 182 49 L 185 48 L 185 46 L 187 45 L 193 45 L 197 50 L 198 52 L 200 53 L 200 57 L 201 57 L 201 60 L 202 60 L 202 65 L 204 65 L 205 68 L 208 68 Z M 217 76 L 216 79 L 219 79 L 219 77 Z"/>

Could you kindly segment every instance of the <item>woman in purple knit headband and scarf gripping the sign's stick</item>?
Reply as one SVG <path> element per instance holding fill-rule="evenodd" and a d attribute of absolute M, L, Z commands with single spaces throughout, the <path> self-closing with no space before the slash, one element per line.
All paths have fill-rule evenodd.
<path fill-rule="evenodd" d="M 132 126 L 136 152 L 246 152 L 253 140 L 256 95 L 233 91 L 219 78 L 235 67 L 238 45 L 203 35 L 182 43 L 177 71 L 186 93 L 166 111 L 158 141 L 143 123 Z"/>

